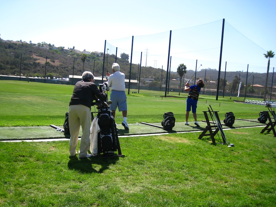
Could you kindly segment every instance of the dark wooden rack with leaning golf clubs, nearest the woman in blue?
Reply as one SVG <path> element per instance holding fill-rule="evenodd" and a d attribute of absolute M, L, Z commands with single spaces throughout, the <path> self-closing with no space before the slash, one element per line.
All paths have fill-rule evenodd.
<path fill-rule="evenodd" d="M 229 141 L 227 140 L 227 137 L 224 134 L 222 124 L 220 123 L 220 119 L 218 116 L 218 111 L 213 111 L 211 105 L 209 105 L 209 107 L 208 107 L 208 111 L 203 111 L 206 122 L 207 122 L 207 126 L 204 129 L 204 131 L 199 135 L 198 139 L 202 139 L 203 136 L 210 136 L 214 145 L 227 144 L 228 147 L 234 147 L 235 144 L 230 144 Z M 209 121 L 208 112 L 212 119 L 212 122 Z M 232 115 L 232 113 L 230 115 Z M 214 125 L 211 125 L 211 123 Z M 215 130 L 213 131 L 212 128 L 215 128 Z M 209 131 L 209 134 L 206 134 L 206 132 L 208 132 L 208 131 Z M 222 142 L 220 140 L 220 136 L 219 136 L 218 132 L 220 132 L 220 134 L 221 134 Z M 216 134 L 219 137 L 220 143 L 216 143 L 216 140 L 215 140 Z"/>

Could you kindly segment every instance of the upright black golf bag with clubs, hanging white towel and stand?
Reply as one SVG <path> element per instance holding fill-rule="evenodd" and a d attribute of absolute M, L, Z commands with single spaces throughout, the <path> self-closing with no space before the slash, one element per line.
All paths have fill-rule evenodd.
<path fill-rule="evenodd" d="M 108 91 L 108 83 L 100 83 L 99 89 L 101 92 L 104 90 Z M 102 153 L 102 156 L 124 157 L 125 155 L 122 155 L 121 152 L 115 120 L 110 111 L 112 101 L 107 101 L 106 96 L 105 102 L 98 99 L 93 104 L 97 106 L 98 113 L 95 111 L 97 114 L 95 118 L 91 113 L 93 120 L 90 128 L 90 151 L 92 155 L 101 155 Z M 118 155 L 114 153 L 117 150 Z"/>

